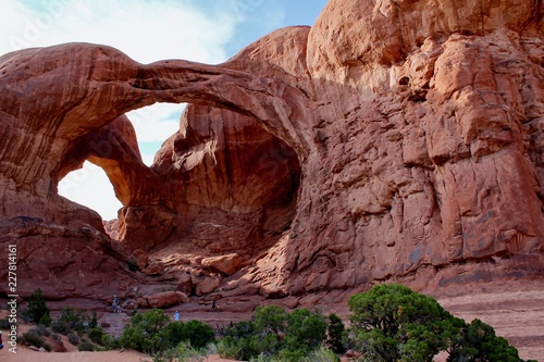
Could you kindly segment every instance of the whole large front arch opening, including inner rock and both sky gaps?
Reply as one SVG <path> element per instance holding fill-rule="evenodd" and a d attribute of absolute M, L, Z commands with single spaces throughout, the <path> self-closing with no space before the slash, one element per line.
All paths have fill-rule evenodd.
<path fill-rule="evenodd" d="M 274 245 L 296 213 L 297 152 L 261 123 L 231 110 L 156 107 L 166 110 L 131 111 L 74 142 L 57 168 L 58 176 L 70 172 L 59 183 L 59 195 L 103 220 L 116 219 L 119 210 L 115 233 L 109 234 L 134 250 L 183 244 L 205 254 L 252 254 Z M 175 129 L 160 130 L 161 137 L 145 135 L 149 127 L 141 125 L 164 118 L 161 114 L 175 118 Z M 162 141 L 164 136 L 170 137 Z M 144 143 L 160 142 L 159 151 L 141 152 L 143 138 Z M 74 173 L 78 162 L 85 166 Z M 92 179 L 89 167 L 101 175 L 92 183 L 95 191 L 85 186 L 85 178 Z M 76 186 L 83 186 L 81 198 L 73 196 Z M 109 198 L 102 196 L 106 190 Z M 114 210 L 102 211 L 102 205 Z"/>

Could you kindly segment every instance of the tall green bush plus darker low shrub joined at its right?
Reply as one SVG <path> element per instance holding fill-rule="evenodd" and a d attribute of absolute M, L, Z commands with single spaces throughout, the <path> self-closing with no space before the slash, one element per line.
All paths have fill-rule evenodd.
<path fill-rule="evenodd" d="M 516 348 L 493 327 L 470 325 L 436 300 L 403 285 L 379 285 L 349 299 L 356 350 L 372 361 L 432 361 L 448 351 L 448 362 L 519 362 Z"/>

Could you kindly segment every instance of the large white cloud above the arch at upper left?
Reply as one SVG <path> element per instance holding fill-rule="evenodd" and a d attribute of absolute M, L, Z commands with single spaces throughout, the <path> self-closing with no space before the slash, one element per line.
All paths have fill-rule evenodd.
<path fill-rule="evenodd" d="M 23 2 L 24 3 L 24 2 Z M 2 0 L 0 53 L 70 41 L 104 43 L 141 63 L 224 61 L 237 16 L 205 14 L 191 1 Z"/>

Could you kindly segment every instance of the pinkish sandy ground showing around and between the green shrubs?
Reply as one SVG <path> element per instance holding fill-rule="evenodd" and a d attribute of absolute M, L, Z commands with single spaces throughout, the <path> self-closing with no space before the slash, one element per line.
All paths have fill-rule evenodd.
<path fill-rule="evenodd" d="M 461 291 L 462 290 L 462 291 Z M 510 283 L 465 285 L 461 288 L 444 288 L 429 292 L 454 315 L 470 322 L 478 317 L 492 325 L 499 336 L 504 336 L 514 345 L 522 359 L 533 359 L 544 362 L 544 280 L 522 280 Z M 346 305 L 329 305 L 335 313 L 346 316 Z M 327 308 L 321 309 L 327 313 Z M 5 317 L 5 311 L 0 317 Z M 226 320 L 249 319 L 249 313 L 195 313 L 190 319 L 201 320 L 210 325 L 225 324 Z M 102 320 L 102 319 L 101 319 Z M 118 324 L 122 329 L 128 322 L 127 315 L 104 313 L 103 320 Z M 116 323 L 115 323 L 116 322 Z M 18 333 L 30 326 L 21 323 Z M 44 361 L 44 362 L 151 362 L 152 359 L 135 351 L 78 352 L 63 337 L 64 346 L 69 350 L 64 353 L 35 352 L 26 347 L 18 346 L 17 353 L 8 350 L 7 335 L 3 334 L 4 349 L 0 350 L 0 362 Z M 344 361 L 347 361 L 343 359 Z M 206 362 L 228 361 L 218 355 L 209 357 Z M 440 355 L 435 361 L 445 361 Z"/>

